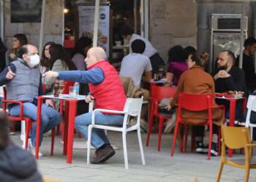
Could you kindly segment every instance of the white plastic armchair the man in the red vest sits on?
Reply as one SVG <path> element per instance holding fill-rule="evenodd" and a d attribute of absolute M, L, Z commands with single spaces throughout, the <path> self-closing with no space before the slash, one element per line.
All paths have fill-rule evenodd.
<path fill-rule="evenodd" d="M 91 124 L 88 127 L 87 165 L 89 165 L 89 163 L 90 163 L 91 131 L 92 131 L 93 128 L 99 128 L 99 129 L 103 129 L 103 130 L 113 130 L 113 131 L 116 131 L 116 132 L 122 132 L 125 169 L 128 169 L 127 132 L 137 130 L 138 142 L 139 142 L 139 146 L 140 146 L 141 160 L 142 160 L 142 164 L 145 165 L 145 158 L 144 158 L 144 153 L 143 153 L 143 144 L 142 144 L 141 135 L 140 135 L 140 111 L 141 111 L 142 103 L 143 103 L 143 98 L 127 98 L 127 101 L 126 101 L 125 106 L 124 106 L 124 111 L 113 111 L 113 110 L 97 108 L 92 112 Z M 96 111 L 102 111 L 102 112 L 111 113 L 111 114 L 124 114 L 123 127 L 95 124 L 95 112 Z M 127 127 L 127 121 L 129 121 L 129 116 L 137 116 L 137 122 L 136 122 L 136 124 Z"/>

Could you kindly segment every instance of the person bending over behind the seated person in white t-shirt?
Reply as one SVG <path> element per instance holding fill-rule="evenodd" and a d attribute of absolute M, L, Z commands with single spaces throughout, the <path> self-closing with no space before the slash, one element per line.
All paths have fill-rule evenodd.
<path fill-rule="evenodd" d="M 142 40 L 146 44 L 145 50 L 143 51 L 142 54 L 146 55 L 150 59 L 153 74 L 157 73 L 158 66 L 160 66 L 160 65 L 165 66 L 165 61 L 160 57 L 157 50 L 152 46 L 150 41 L 148 41 L 147 39 L 144 39 L 142 36 L 135 34 L 131 28 L 127 28 L 127 27 L 123 28 L 122 36 L 124 37 L 124 39 L 129 40 L 129 47 L 130 47 L 129 52 L 131 52 L 132 42 L 137 39 Z"/>

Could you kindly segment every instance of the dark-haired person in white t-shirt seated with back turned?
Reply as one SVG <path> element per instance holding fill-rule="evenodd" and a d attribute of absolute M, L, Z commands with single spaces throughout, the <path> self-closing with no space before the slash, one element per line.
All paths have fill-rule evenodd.
<path fill-rule="evenodd" d="M 146 47 L 144 41 L 136 39 L 132 41 L 132 53 L 121 61 L 120 76 L 132 78 L 135 86 L 140 87 L 141 76 L 145 72 L 146 82 L 152 79 L 152 66 L 148 57 L 142 55 Z"/>

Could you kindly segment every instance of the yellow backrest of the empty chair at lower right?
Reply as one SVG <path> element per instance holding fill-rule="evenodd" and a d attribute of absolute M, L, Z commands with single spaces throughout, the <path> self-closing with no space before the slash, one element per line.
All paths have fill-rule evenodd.
<path fill-rule="evenodd" d="M 230 149 L 244 148 L 246 143 L 251 143 L 249 139 L 249 128 L 222 125 L 222 141 Z"/>

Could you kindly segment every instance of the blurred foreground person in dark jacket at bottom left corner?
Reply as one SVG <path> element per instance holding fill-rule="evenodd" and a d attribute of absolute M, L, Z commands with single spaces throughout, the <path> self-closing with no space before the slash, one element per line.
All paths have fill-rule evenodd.
<path fill-rule="evenodd" d="M 8 123 L 0 111 L 0 181 L 42 182 L 34 156 L 10 141 Z"/>

